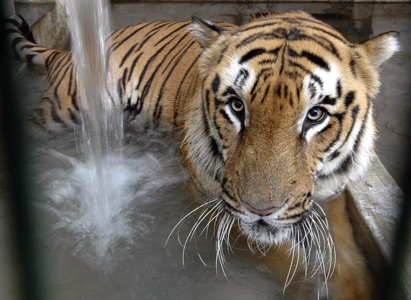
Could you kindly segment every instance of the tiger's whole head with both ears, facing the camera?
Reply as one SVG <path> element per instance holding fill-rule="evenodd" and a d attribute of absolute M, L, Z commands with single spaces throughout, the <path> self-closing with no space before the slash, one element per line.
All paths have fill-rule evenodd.
<path fill-rule="evenodd" d="M 398 34 L 353 44 L 304 12 L 228 29 L 193 17 L 191 32 L 202 47 L 185 127 L 192 180 L 220 191 L 249 238 L 281 243 L 369 165 L 372 100 Z"/>

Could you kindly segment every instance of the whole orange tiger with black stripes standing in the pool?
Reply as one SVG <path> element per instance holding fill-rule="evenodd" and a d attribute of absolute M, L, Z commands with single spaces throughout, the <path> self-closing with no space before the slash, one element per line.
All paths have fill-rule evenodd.
<path fill-rule="evenodd" d="M 47 69 L 30 121 L 51 133 L 80 123 L 71 52 L 37 45 L 21 16 L 7 24 L 17 57 Z M 222 212 L 218 230 L 229 233 L 236 223 L 249 243 L 283 245 L 309 235 L 307 224 L 323 206 L 343 270 L 330 278 L 327 296 L 373 298 L 365 258 L 342 215 L 344 188 L 375 155 L 372 101 L 382 65 L 400 49 L 397 32 L 351 43 L 296 11 L 241 26 L 196 16 L 134 24 L 109 38 L 126 122 L 182 133 L 190 189 L 213 195 L 200 207 Z M 275 274 L 284 272 L 271 265 Z"/>

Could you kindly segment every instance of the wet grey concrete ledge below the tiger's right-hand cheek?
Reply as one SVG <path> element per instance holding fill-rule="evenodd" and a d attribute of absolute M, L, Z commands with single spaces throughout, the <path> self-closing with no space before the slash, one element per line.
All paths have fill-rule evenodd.
<path fill-rule="evenodd" d="M 385 279 L 384 272 L 393 260 L 397 225 L 405 195 L 377 157 L 367 174 L 347 185 L 347 209 L 353 223 L 357 242 L 368 258 L 377 282 Z M 411 237 L 402 241 L 411 245 Z M 411 259 L 407 253 L 406 260 Z M 411 264 L 405 265 L 404 285 L 411 298 Z"/>

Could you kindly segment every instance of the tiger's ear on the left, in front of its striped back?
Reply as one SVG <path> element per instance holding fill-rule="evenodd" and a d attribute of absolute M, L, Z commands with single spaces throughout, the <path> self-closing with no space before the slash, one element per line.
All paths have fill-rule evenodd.
<path fill-rule="evenodd" d="M 202 20 L 195 15 L 191 17 L 191 20 L 190 32 L 194 34 L 194 39 L 200 43 L 201 47 L 204 49 L 209 48 L 215 41 L 217 41 L 220 34 L 227 30 L 215 25 L 213 22 Z"/>

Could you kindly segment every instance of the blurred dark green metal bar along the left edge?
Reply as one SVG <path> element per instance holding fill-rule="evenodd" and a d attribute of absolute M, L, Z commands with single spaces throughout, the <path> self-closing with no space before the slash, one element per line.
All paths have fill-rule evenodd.
<path fill-rule="evenodd" d="M 33 193 L 30 172 L 27 167 L 27 149 L 24 135 L 23 113 L 18 106 L 18 93 L 11 80 L 11 61 L 7 51 L 3 2 L 0 5 L 0 146 L 4 155 L 3 166 L 6 174 L 6 194 L 10 208 L 13 232 L 11 242 L 16 255 L 17 283 L 21 299 L 45 300 L 45 284 L 36 251 L 33 216 Z M 20 88 L 22 90 L 22 88 Z"/>

